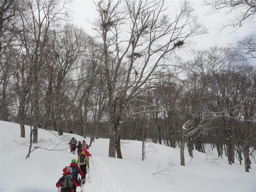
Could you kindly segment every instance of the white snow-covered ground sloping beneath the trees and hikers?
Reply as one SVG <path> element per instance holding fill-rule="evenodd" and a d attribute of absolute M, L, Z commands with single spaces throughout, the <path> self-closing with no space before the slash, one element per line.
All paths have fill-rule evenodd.
<path fill-rule="evenodd" d="M 69 150 L 48 151 L 36 149 L 26 159 L 28 147 L 16 142 L 28 141 L 30 127 L 25 126 L 26 138 L 20 137 L 20 126 L 10 122 L 0 121 L 1 154 L 0 154 L 0 191 L 57 191 L 56 182 L 62 176 L 62 169 L 71 163 L 76 155 Z M 56 133 L 56 132 L 53 132 Z M 58 138 L 49 131 L 38 130 L 39 139 Z M 64 133 L 66 137 L 73 137 L 82 141 L 83 137 Z M 67 139 L 67 138 L 66 138 Z M 15 142 L 16 141 L 16 142 Z M 86 139 L 89 143 L 89 138 Z M 255 191 L 255 164 L 250 172 L 244 171 L 244 165 L 229 165 L 225 156 L 218 158 L 217 151 L 213 151 L 213 158 L 217 164 L 205 163 L 205 154 L 194 150 L 194 159 L 190 162 L 188 151 L 185 149 L 186 166 L 180 166 L 180 149 L 170 148 L 159 144 L 147 143 L 153 146 L 157 153 L 146 153 L 146 159 L 141 161 L 141 142 L 131 141 L 122 143 L 123 159 L 108 157 L 108 139 L 98 139 L 89 149 L 90 183 L 84 186 L 84 191 Z M 124 141 L 124 142 L 127 142 Z M 68 143 L 68 142 L 67 142 Z M 66 143 L 66 144 L 67 144 Z M 44 143 L 46 145 L 46 143 Z M 68 144 L 66 145 L 66 147 Z M 46 146 L 45 148 L 51 148 Z M 211 150 L 210 150 L 211 151 Z M 211 157 L 211 158 L 212 158 Z M 171 161 L 169 177 L 152 175 L 163 170 Z M 190 164 L 189 164 L 190 162 Z M 86 175 L 87 181 L 88 174 Z M 77 188 L 80 191 L 80 188 Z"/>

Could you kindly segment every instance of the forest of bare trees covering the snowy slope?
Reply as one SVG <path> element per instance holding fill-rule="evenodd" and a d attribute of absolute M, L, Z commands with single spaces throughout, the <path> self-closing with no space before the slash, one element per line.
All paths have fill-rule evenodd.
<path fill-rule="evenodd" d="M 193 158 L 193 150 L 206 153 L 210 145 L 229 164 L 244 161 L 249 172 L 256 152 L 255 33 L 196 50 L 190 40 L 207 29 L 188 1 L 172 18 L 162 0 L 94 3 L 91 36 L 71 23 L 70 1 L 1 0 L 0 120 L 19 123 L 21 137 L 24 125 L 32 126 L 33 143 L 38 127 L 109 138 L 108 156 L 117 158 L 120 139 L 142 141 L 142 160 L 146 140 L 180 148 L 181 165 L 185 148 Z M 233 4 L 205 5 L 214 12 Z M 255 17 L 253 2 L 233 6 L 250 14 L 221 30 Z"/>

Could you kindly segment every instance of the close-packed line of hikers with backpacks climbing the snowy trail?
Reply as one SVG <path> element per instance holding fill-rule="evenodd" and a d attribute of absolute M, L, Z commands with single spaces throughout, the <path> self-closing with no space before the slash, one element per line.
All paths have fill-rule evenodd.
<path fill-rule="evenodd" d="M 70 152 L 75 154 L 77 148 L 78 158 L 72 159 L 71 164 L 63 169 L 63 176 L 56 183 L 56 187 L 60 188 L 60 192 L 76 192 L 76 187 L 83 186 L 85 183 L 85 175 L 89 172 L 89 156 L 92 156 L 88 149 L 89 146 L 85 140 L 77 141 L 73 137 L 70 142 Z M 76 145 L 77 144 L 77 145 Z M 81 180 L 78 179 L 78 174 L 81 175 Z M 89 179 L 90 180 L 90 179 Z"/>

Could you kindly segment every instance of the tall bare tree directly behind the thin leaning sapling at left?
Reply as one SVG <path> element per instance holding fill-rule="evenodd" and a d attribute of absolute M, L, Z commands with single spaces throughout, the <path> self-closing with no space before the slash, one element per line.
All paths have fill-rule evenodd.
<path fill-rule="evenodd" d="M 21 28 L 20 40 L 26 50 L 28 60 L 32 69 L 33 83 L 33 143 L 37 143 L 37 127 L 40 124 L 39 116 L 39 72 L 44 63 L 44 51 L 49 34 L 60 23 L 66 19 L 67 2 L 59 0 L 26 0 L 24 4 L 19 4 Z M 24 9 L 26 7 L 26 9 Z"/>

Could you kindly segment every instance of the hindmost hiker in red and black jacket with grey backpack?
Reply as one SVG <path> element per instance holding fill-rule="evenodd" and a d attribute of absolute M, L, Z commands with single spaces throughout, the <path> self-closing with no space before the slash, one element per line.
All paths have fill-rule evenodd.
<path fill-rule="evenodd" d="M 77 180 L 76 177 L 72 174 L 72 168 L 66 168 L 66 172 L 64 172 L 62 175 L 63 176 L 56 183 L 57 188 L 60 188 L 60 186 L 62 186 L 60 192 L 70 191 L 71 189 L 72 192 L 76 192 L 76 187 L 79 187 L 81 185 L 81 182 Z M 73 185 L 72 182 L 70 184 L 70 178 L 73 179 Z"/>

